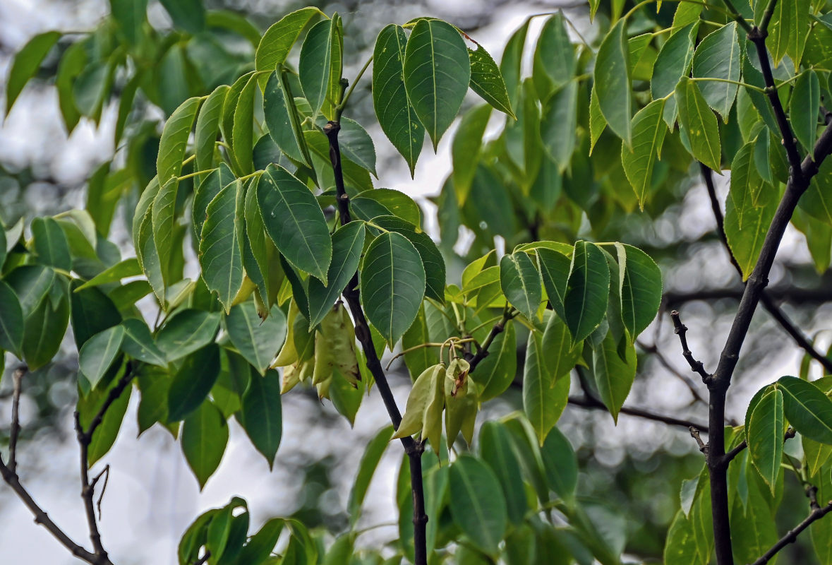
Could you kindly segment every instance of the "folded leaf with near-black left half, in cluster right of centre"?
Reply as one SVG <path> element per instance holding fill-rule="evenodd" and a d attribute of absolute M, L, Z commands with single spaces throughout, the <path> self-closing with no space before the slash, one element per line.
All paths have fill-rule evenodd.
<path fill-rule="evenodd" d="M 601 324 L 607 314 L 609 290 L 610 270 L 602 250 L 595 244 L 577 241 L 563 300 L 574 343 L 586 339 Z"/>

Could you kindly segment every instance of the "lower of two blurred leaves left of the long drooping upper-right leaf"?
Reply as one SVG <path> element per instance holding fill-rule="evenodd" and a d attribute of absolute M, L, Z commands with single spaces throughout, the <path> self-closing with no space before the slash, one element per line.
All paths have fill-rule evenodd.
<path fill-rule="evenodd" d="M 577 81 L 566 82 L 552 92 L 552 96 L 543 105 L 540 135 L 543 146 L 561 172 L 567 170 L 575 151 L 577 88 Z"/>

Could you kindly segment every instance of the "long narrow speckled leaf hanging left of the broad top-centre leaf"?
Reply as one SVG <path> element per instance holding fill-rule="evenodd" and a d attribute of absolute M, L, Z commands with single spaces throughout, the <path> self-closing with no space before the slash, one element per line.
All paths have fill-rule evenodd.
<path fill-rule="evenodd" d="M 414 176 L 416 160 L 422 151 L 424 126 L 418 121 L 404 88 L 404 28 L 384 27 L 373 52 L 373 107 L 384 135 L 399 151 Z"/>

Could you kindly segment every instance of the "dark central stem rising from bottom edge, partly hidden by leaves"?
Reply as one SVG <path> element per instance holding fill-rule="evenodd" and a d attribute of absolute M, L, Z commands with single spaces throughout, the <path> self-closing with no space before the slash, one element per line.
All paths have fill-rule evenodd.
<path fill-rule="evenodd" d="M 338 143 L 338 132 L 341 126 L 337 121 L 329 121 L 324 127 L 324 133 L 329 138 L 329 161 L 332 163 L 332 168 L 335 176 L 335 199 L 338 202 L 338 211 L 341 225 L 349 223 L 349 196 L 344 187 L 344 174 L 341 171 L 341 151 Z M 344 300 L 349 306 L 349 310 L 353 315 L 355 321 L 355 337 L 359 340 L 362 349 L 364 349 L 364 356 L 367 359 L 367 369 L 373 374 L 375 383 L 381 394 L 381 399 L 384 401 L 384 408 L 387 409 L 390 421 L 394 428 L 398 429 L 402 422 L 402 414 L 399 412 L 399 406 L 396 404 L 396 399 L 390 385 L 387 381 L 387 376 L 384 374 L 384 368 L 381 366 L 379 356 L 375 353 L 375 345 L 373 344 L 373 336 L 369 331 L 369 324 L 364 316 L 364 309 L 361 307 L 359 278 L 356 272 L 349 281 L 347 288 L 342 293 Z M 428 515 L 424 508 L 424 488 L 422 478 L 422 453 L 424 446 L 422 442 L 416 441 L 410 436 L 401 439 L 404 447 L 404 452 L 408 454 L 410 463 L 410 488 L 413 492 L 414 499 L 414 562 L 415 565 L 427 565 L 428 563 L 428 545 L 427 545 L 427 523 Z M 436 446 L 438 449 L 438 446 Z"/>

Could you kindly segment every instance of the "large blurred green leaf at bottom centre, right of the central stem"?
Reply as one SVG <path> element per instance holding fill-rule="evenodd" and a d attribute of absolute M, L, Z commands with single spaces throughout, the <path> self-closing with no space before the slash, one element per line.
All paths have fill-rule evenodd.
<path fill-rule="evenodd" d="M 453 462 L 450 473 L 453 521 L 477 548 L 496 557 L 508 525 L 498 478 L 485 463 L 466 454 Z"/>

